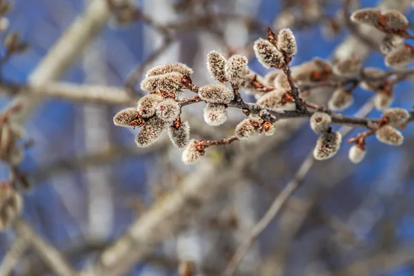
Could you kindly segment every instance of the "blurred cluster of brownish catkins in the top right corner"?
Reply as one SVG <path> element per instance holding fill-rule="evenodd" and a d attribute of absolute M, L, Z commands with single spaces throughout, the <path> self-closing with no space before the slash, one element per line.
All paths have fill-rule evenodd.
<path fill-rule="evenodd" d="M 386 55 L 386 66 L 403 67 L 414 60 L 413 46 L 404 43 L 409 22 L 401 12 L 397 10 L 381 12 L 379 9 L 366 8 L 354 12 L 351 19 L 356 23 L 374 26 L 386 33 L 380 45 L 380 50 Z"/>

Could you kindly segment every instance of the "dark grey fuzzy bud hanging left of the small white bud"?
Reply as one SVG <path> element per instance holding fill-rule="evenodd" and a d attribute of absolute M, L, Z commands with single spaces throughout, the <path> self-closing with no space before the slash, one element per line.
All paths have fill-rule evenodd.
<path fill-rule="evenodd" d="M 325 132 L 316 141 L 313 157 L 325 160 L 333 157 L 341 147 L 342 135 L 339 132 Z"/>

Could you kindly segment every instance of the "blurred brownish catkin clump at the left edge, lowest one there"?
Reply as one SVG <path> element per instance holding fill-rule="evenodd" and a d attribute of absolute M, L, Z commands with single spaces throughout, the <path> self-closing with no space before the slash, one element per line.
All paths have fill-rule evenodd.
<path fill-rule="evenodd" d="M 10 182 L 0 184 L 0 230 L 7 230 L 12 221 L 19 217 L 23 208 L 21 195 Z"/>

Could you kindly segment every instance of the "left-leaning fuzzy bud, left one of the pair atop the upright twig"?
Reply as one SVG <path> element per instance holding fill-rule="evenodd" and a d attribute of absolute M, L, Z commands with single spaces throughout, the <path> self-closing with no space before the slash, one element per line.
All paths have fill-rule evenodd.
<path fill-rule="evenodd" d="M 283 68 L 286 65 L 282 52 L 265 39 L 257 39 L 253 46 L 257 60 L 262 63 L 265 68 Z"/>

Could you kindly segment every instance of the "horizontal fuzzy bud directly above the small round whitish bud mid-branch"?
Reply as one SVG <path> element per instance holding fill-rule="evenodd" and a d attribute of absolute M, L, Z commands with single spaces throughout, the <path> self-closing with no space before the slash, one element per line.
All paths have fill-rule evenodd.
<path fill-rule="evenodd" d="M 223 84 L 209 84 L 199 88 L 199 97 L 208 103 L 228 104 L 235 98 L 233 91 Z"/>

